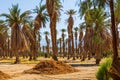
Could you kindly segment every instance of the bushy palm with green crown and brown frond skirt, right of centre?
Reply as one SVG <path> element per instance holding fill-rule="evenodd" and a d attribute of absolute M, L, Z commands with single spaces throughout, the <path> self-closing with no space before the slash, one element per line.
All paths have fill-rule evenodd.
<path fill-rule="evenodd" d="M 83 3 L 85 3 L 85 1 Z M 83 4 L 83 3 L 81 3 L 81 4 Z M 89 3 L 86 2 L 86 4 L 89 4 Z M 84 5 L 82 7 L 84 7 Z M 92 46 L 92 44 L 96 45 L 95 48 L 98 51 L 98 52 L 96 52 L 97 53 L 96 54 L 96 63 L 98 64 L 100 61 L 100 53 L 102 50 L 101 49 L 101 46 L 103 43 L 102 41 L 106 39 L 106 38 L 103 38 L 101 35 L 103 35 L 104 31 L 107 31 L 107 30 L 103 30 L 103 29 L 106 29 L 105 28 L 106 26 L 108 26 L 108 23 L 105 21 L 107 16 L 106 16 L 106 13 L 101 8 L 94 7 L 93 9 L 91 9 L 91 7 L 92 7 L 91 5 L 85 6 L 85 7 L 88 7 L 88 8 L 86 8 L 86 10 L 85 10 L 85 8 L 83 8 L 84 15 L 85 15 L 85 23 L 87 26 L 86 34 L 84 37 L 84 44 L 85 44 L 84 48 L 85 48 L 85 51 L 93 53 L 93 52 L 95 52 L 95 49 L 92 51 L 92 48 L 90 48 L 90 47 Z M 94 14 L 94 15 L 92 15 L 92 14 Z M 92 37 L 94 37 L 94 39 Z M 88 41 L 90 42 L 90 44 L 87 43 Z M 109 44 L 109 45 L 111 45 L 111 44 Z M 89 56 L 90 56 L 90 53 L 89 53 Z"/>

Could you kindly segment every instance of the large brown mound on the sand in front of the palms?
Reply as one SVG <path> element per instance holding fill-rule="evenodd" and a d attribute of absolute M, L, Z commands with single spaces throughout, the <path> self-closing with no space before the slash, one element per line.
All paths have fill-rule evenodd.
<path fill-rule="evenodd" d="M 78 70 L 61 61 L 45 60 L 38 63 L 34 68 L 25 70 L 24 73 L 29 74 L 65 74 Z"/>

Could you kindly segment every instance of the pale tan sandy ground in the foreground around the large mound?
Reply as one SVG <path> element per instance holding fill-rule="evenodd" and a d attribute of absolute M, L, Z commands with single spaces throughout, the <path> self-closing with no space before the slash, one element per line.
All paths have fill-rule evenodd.
<path fill-rule="evenodd" d="M 32 68 L 33 64 L 0 64 L 0 71 L 12 76 L 9 80 L 97 80 L 95 78 L 98 66 L 77 66 L 79 72 L 60 75 L 22 74 Z"/>

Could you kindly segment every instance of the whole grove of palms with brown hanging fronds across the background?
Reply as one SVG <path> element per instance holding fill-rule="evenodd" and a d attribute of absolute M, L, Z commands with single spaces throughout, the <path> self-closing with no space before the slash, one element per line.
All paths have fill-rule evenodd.
<path fill-rule="evenodd" d="M 67 57 L 67 59 L 79 58 L 84 61 L 86 58 L 94 57 L 96 64 L 99 64 L 102 57 L 113 53 L 113 67 L 120 71 L 116 65 L 117 48 L 119 48 L 120 1 L 80 0 L 78 7 L 78 14 L 84 22 L 74 27 L 73 15 L 76 15 L 77 11 L 74 9 L 65 11 L 68 15 L 67 30 L 61 29 L 61 37 L 57 40 L 56 23 L 63 8 L 60 0 L 46 0 L 45 4 L 42 4 L 41 0 L 35 9 L 23 13 L 20 12 L 18 5 L 12 5 L 9 13 L 0 15 L 5 17 L 5 20 L 0 20 L 0 57 L 15 56 L 15 63 L 20 62 L 21 56 L 29 56 L 29 60 L 36 60 L 39 53 L 44 52 L 44 49 L 41 50 L 39 30 L 50 22 L 50 33 L 44 32 L 47 45 L 43 48 L 54 60 L 58 61 L 57 57 Z M 105 7 L 110 12 L 106 11 Z M 34 13 L 36 13 L 35 18 L 31 16 Z M 11 33 L 8 34 L 9 32 Z M 50 51 L 49 34 L 51 34 L 52 51 Z"/>

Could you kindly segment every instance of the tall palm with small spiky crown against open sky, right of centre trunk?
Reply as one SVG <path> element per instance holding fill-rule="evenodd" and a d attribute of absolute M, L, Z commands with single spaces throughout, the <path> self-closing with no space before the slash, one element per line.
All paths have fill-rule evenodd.
<path fill-rule="evenodd" d="M 69 59 L 69 54 L 71 54 L 72 52 L 71 51 L 73 51 L 73 53 L 72 53 L 72 55 L 73 55 L 73 59 L 75 59 L 75 55 L 74 55 L 74 50 L 72 50 L 72 49 L 74 49 L 74 45 L 73 45 L 73 31 L 72 31 L 72 28 L 73 28 L 73 25 L 74 25 L 74 20 L 73 20 L 73 15 L 76 13 L 76 11 L 74 11 L 73 9 L 70 9 L 70 10 L 68 10 L 68 11 L 66 11 L 66 14 L 67 15 L 69 15 L 69 18 L 68 18 L 68 28 L 67 28 L 67 30 L 68 30 L 68 59 Z M 72 45 L 71 45 L 71 43 L 72 43 Z"/>

